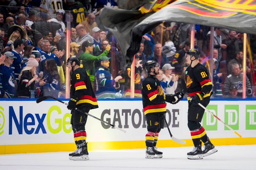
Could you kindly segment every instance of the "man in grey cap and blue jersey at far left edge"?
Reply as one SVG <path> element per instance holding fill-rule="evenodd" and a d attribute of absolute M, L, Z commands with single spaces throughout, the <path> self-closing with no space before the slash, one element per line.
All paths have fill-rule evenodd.
<path fill-rule="evenodd" d="M 15 94 L 15 85 L 17 85 L 14 72 L 12 70 L 12 62 L 16 59 L 16 56 L 12 52 L 7 51 L 4 53 L 5 60 L 4 64 L 0 65 L 0 86 L 2 86 L 5 95 L 2 94 L 3 98 L 13 98 Z"/>

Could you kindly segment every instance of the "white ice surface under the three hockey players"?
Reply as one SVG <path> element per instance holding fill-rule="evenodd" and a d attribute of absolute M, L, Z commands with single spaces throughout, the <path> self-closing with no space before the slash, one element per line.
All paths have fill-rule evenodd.
<path fill-rule="evenodd" d="M 201 160 L 187 159 L 192 147 L 158 148 L 161 159 L 145 159 L 145 149 L 91 151 L 90 160 L 72 161 L 69 152 L 0 155 L 0 170 L 254 170 L 256 145 L 216 146 L 218 152 Z"/>

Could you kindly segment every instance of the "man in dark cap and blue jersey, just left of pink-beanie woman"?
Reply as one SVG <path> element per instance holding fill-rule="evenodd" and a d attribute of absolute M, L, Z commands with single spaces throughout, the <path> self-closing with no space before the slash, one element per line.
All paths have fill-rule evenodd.
<path fill-rule="evenodd" d="M 21 71 L 20 63 L 23 61 L 23 56 L 20 54 L 20 52 L 23 51 L 25 46 L 23 44 L 23 41 L 20 39 L 16 39 L 13 42 L 13 45 L 14 45 L 14 49 L 12 50 L 12 53 L 16 58 L 14 58 L 14 61 L 12 63 L 12 69 L 14 71 L 16 81 L 17 83 L 19 83 L 18 76 L 20 75 L 20 71 Z"/>

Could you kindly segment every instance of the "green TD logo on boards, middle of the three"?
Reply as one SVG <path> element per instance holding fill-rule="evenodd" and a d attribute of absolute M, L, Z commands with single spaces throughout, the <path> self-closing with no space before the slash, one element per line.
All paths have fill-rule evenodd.
<path fill-rule="evenodd" d="M 225 105 L 225 123 L 232 129 L 239 129 L 239 105 Z M 229 130 L 226 126 L 224 130 Z"/>

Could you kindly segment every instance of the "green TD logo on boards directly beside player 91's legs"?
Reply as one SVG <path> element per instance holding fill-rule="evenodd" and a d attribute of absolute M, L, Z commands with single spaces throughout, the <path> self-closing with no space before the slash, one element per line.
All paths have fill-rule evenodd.
<path fill-rule="evenodd" d="M 214 115 L 218 116 L 218 105 L 208 105 L 206 108 L 210 110 Z M 205 130 L 218 130 L 217 119 L 214 118 L 210 113 L 204 112 L 203 127 Z"/>

